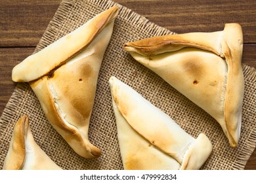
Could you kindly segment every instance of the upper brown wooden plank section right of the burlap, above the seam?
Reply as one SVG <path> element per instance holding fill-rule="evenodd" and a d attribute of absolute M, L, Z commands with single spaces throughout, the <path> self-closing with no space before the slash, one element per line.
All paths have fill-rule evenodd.
<path fill-rule="evenodd" d="M 244 42 L 256 42 L 256 1 L 114 0 L 175 33 L 219 31 L 226 23 L 242 25 Z"/>

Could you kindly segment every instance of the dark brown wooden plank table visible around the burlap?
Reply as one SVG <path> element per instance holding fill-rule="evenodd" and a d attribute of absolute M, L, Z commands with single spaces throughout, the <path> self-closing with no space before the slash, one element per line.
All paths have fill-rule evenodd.
<path fill-rule="evenodd" d="M 256 1 L 114 0 L 176 33 L 219 31 L 237 22 L 244 33 L 242 63 L 256 68 Z M 61 0 L 0 1 L 0 114 L 15 88 L 14 65 L 32 54 Z M 245 169 L 256 169 L 256 150 Z"/>

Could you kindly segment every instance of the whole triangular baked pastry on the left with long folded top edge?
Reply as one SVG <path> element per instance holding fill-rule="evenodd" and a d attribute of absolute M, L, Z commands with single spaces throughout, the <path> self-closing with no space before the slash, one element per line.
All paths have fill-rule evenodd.
<path fill-rule="evenodd" d="M 89 122 L 104 52 L 118 7 L 29 56 L 12 70 L 14 82 L 28 82 L 54 129 L 84 158 L 98 158 L 88 139 Z"/>

